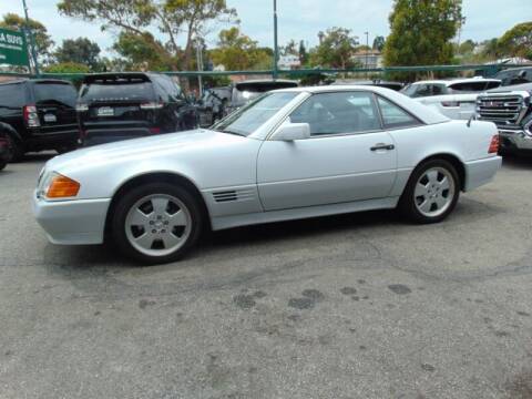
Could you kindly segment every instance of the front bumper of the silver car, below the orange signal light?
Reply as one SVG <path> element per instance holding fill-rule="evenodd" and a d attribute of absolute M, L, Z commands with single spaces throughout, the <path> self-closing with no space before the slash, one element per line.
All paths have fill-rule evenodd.
<path fill-rule="evenodd" d="M 33 215 L 53 244 L 102 244 L 110 198 L 44 201 L 33 194 Z"/>

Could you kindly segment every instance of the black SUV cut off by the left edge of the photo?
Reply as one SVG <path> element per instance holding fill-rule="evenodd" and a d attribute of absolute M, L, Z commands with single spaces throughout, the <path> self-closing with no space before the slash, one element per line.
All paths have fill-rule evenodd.
<path fill-rule="evenodd" d="M 78 93 L 72 83 L 32 79 L 0 83 L 0 130 L 7 134 L 12 160 L 25 152 L 76 146 Z"/>

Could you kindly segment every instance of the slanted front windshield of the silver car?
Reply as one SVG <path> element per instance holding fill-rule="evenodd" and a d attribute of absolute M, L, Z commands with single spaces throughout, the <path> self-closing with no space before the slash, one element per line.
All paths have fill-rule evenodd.
<path fill-rule="evenodd" d="M 267 93 L 214 125 L 214 130 L 224 133 L 247 136 L 266 123 L 283 106 L 295 99 L 298 92 Z"/>

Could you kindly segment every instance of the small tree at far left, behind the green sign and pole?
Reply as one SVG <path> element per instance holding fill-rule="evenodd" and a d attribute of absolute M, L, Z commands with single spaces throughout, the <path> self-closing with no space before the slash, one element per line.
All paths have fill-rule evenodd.
<path fill-rule="evenodd" d="M 39 60 L 41 62 L 47 62 L 50 57 L 50 49 L 53 45 L 53 41 L 48 33 L 47 27 L 44 27 L 41 22 L 30 19 L 29 23 L 27 24 L 25 19 L 16 14 L 16 13 L 7 13 L 0 20 L 0 28 L 11 29 L 22 31 L 25 30 L 28 33 L 28 28 L 31 29 L 33 32 L 33 38 L 35 40 L 35 51 Z M 29 59 L 31 65 L 33 65 L 33 60 L 31 58 L 31 50 L 30 50 L 30 37 L 27 34 L 25 42 L 28 43 L 28 50 L 30 51 Z"/>

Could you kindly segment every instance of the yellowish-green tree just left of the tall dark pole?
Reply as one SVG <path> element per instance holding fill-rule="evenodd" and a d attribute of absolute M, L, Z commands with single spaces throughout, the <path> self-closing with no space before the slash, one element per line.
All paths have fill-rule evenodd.
<path fill-rule="evenodd" d="M 222 30 L 218 38 L 218 47 L 209 52 L 214 64 L 233 71 L 272 66 L 272 49 L 258 48 L 257 42 L 238 28 Z"/>

